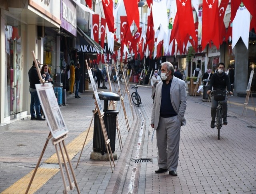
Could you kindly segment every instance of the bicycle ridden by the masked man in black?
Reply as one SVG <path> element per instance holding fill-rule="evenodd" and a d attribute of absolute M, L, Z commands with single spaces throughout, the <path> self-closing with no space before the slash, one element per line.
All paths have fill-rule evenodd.
<path fill-rule="evenodd" d="M 222 127 L 222 101 L 226 99 L 227 90 L 212 90 L 210 94 L 214 96 L 214 100 L 218 101 L 215 126 L 218 130 L 218 139 L 220 139 L 220 128 Z"/>

